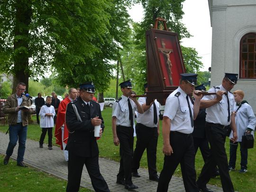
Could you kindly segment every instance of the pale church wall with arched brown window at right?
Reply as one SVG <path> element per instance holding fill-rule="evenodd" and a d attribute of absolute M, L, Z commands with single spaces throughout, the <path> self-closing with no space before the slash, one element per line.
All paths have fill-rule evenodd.
<path fill-rule="evenodd" d="M 243 90 L 256 113 L 256 0 L 208 0 L 212 27 L 211 86 L 237 73 L 231 91 Z"/>

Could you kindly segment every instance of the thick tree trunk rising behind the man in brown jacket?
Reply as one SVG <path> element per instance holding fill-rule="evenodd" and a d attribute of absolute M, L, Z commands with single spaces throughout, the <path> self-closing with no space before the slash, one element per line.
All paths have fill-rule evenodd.
<path fill-rule="evenodd" d="M 16 92 L 16 86 L 19 82 L 26 84 L 28 90 L 28 59 L 31 57 L 29 50 L 29 25 L 32 18 L 31 0 L 16 1 L 16 14 L 14 26 L 14 69 L 12 92 Z M 26 91 L 27 92 L 27 91 Z"/>

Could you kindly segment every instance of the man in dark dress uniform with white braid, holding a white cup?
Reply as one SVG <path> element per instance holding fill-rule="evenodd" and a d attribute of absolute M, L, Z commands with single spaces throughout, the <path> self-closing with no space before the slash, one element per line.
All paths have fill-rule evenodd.
<path fill-rule="evenodd" d="M 100 105 L 92 100 L 94 93 L 92 82 L 80 84 L 80 97 L 67 105 L 69 160 L 66 192 L 79 191 L 83 165 L 87 168 L 94 190 L 110 192 L 99 167 L 99 148 L 96 136 L 101 136 L 104 125 Z M 96 131 L 97 127 L 99 127 L 98 131 Z M 94 131 L 96 136 L 94 136 Z"/>

